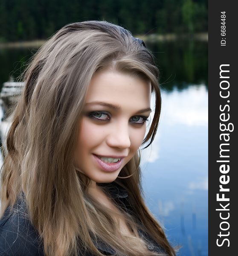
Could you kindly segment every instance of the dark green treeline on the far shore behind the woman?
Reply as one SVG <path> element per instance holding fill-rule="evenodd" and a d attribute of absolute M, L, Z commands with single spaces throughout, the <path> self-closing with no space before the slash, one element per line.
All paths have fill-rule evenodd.
<path fill-rule="evenodd" d="M 206 32 L 207 9 L 207 0 L 0 0 L 0 41 L 46 39 L 83 20 L 107 20 L 140 35 Z"/>

